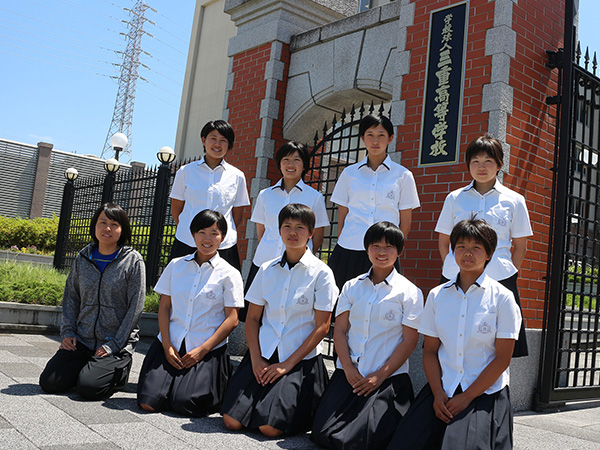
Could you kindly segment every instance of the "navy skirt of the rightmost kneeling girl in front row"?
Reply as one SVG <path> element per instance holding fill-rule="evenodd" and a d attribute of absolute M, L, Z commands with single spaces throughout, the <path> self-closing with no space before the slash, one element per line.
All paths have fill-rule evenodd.
<path fill-rule="evenodd" d="M 436 417 L 433 401 L 428 383 L 398 424 L 388 450 L 513 448 L 513 410 L 508 386 L 493 394 L 481 394 L 448 425 Z"/>

